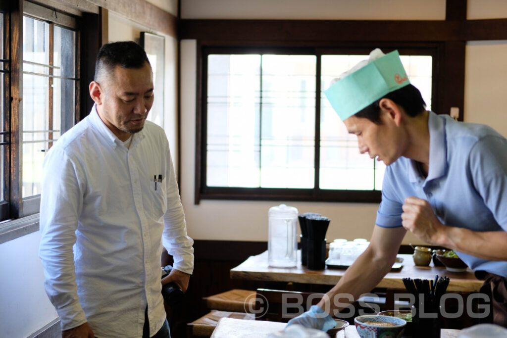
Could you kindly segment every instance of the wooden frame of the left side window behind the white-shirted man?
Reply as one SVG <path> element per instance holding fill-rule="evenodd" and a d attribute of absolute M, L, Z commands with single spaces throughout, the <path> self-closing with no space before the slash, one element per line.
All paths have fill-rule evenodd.
<path fill-rule="evenodd" d="M 40 3 L 40 2 L 39 2 Z M 6 161 L 9 166 L 6 166 L 7 180 L 6 202 L 0 205 L 2 210 L 2 218 L 0 221 L 0 244 L 27 235 L 31 232 L 39 230 L 39 204 L 40 195 L 37 197 L 21 198 L 21 158 L 20 158 L 20 120 L 22 117 L 22 62 L 23 62 L 23 16 L 24 5 L 23 0 L 0 0 L 0 9 L 5 11 L 7 31 L 6 31 L 6 55 L 10 59 L 9 62 L 9 86 L 6 86 L 6 130 L 9 131 L 7 135 L 9 141 L 9 156 Z M 28 6 L 32 6 L 29 4 Z M 33 6 L 41 7 L 34 4 Z M 77 123 L 89 114 L 91 104 L 87 98 L 88 83 L 93 80 L 95 69 L 95 57 L 102 44 L 101 42 L 101 16 L 102 11 L 99 9 L 95 12 L 79 13 L 75 9 L 69 11 L 73 13 L 71 16 L 68 13 L 62 12 L 65 8 L 62 5 L 57 9 L 45 8 L 43 11 L 46 16 L 49 14 L 50 18 L 44 15 L 40 16 L 35 13 L 29 13 L 27 16 L 34 17 L 35 19 L 43 19 L 44 21 L 52 21 L 55 25 L 62 26 L 67 29 L 74 29 L 76 33 L 77 50 L 75 54 L 76 64 L 76 80 L 75 83 L 75 117 L 74 123 Z M 78 15 L 80 14 L 80 15 Z M 79 17 L 81 16 L 81 18 Z M 74 27 L 69 27 L 68 20 L 75 21 Z M 51 20 L 48 20 L 51 19 Z M 86 23 L 86 24 L 84 24 Z M 82 52 L 83 51 L 83 52 Z M 85 88 L 86 87 L 86 88 Z M 84 97 L 84 100 L 80 98 Z"/>

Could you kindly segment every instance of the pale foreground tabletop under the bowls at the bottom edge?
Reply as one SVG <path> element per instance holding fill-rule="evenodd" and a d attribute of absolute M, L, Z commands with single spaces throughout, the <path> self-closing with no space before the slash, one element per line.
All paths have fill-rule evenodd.
<path fill-rule="evenodd" d="M 263 320 L 243 320 L 235 318 L 222 318 L 211 338 L 241 337 L 266 338 L 269 334 L 283 330 L 286 323 L 267 322 Z M 459 330 L 441 329 L 441 338 L 455 338 Z M 348 326 L 338 331 L 336 338 L 359 338 L 355 326 Z"/>

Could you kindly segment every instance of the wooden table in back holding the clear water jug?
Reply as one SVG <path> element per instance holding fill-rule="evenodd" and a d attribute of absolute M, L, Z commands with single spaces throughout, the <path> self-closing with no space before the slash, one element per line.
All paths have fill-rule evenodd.
<path fill-rule="evenodd" d="M 298 265 L 295 268 L 271 268 L 268 266 L 268 251 L 265 251 L 248 257 L 239 266 L 231 269 L 230 275 L 232 279 L 335 285 L 345 273 L 345 270 L 338 269 L 308 270 L 301 266 L 300 255 L 299 250 Z M 418 267 L 414 265 L 412 255 L 399 254 L 398 257 L 403 258 L 402 270 L 389 272 L 377 287 L 404 290 L 403 278 L 432 280 L 435 275 L 449 277 L 448 292 L 477 292 L 483 283 L 469 269 L 466 272 L 448 272 L 441 267 Z"/>

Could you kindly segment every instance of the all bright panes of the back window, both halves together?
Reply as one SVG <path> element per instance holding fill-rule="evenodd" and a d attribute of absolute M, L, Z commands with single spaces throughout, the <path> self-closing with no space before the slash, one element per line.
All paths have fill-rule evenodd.
<path fill-rule="evenodd" d="M 382 189 L 385 165 L 357 140 L 323 95 L 366 55 L 322 55 L 319 188 Z M 431 104 L 431 56 L 402 56 Z M 312 189 L 316 55 L 211 54 L 207 60 L 206 185 Z"/>

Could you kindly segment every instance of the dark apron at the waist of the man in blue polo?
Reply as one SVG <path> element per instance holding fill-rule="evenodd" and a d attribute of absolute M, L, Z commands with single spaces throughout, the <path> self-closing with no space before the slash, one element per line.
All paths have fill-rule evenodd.
<path fill-rule="evenodd" d="M 507 278 L 486 271 L 476 271 L 475 275 L 484 280 L 480 292 L 491 297 L 493 323 L 507 327 Z"/>

